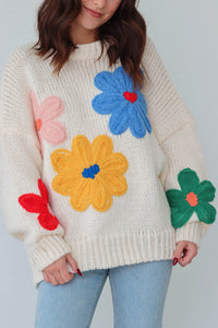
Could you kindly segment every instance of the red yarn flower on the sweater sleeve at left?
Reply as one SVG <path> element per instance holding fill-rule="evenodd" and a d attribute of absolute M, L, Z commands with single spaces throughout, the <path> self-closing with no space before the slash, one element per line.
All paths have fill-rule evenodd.
<path fill-rule="evenodd" d="M 37 219 L 44 229 L 56 230 L 59 225 L 59 221 L 49 212 L 48 191 L 40 178 L 38 179 L 38 189 L 40 191 L 40 196 L 36 194 L 24 194 L 19 197 L 19 203 L 27 212 L 39 213 Z"/>

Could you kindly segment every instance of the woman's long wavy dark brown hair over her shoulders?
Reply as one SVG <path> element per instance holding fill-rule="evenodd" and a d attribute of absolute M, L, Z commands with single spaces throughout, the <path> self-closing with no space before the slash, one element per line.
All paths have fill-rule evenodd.
<path fill-rule="evenodd" d="M 142 56 L 146 45 L 146 23 L 136 8 L 136 0 L 122 0 L 114 14 L 98 27 L 101 54 L 109 43 L 109 66 L 120 58 L 124 71 L 133 79 L 133 87 L 144 85 Z M 45 0 L 37 12 L 38 40 L 32 47 L 39 57 L 52 56 L 53 73 L 60 72 L 77 46 L 73 44 L 71 24 L 80 14 L 81 0 Z M 51 50 L 51 51 L 50 51 Z M 99 59 L 98 58 L 98 59 Z"/>

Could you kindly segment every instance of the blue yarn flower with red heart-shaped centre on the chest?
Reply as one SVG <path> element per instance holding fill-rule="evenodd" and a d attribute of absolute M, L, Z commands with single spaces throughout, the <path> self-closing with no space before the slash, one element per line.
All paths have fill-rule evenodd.
<path fill-rule="evenodd" d="M 94 84 L 102 93 L 93 98 L 93 108 L 98 114 L 111 114 L 109 129 L 113 134 L 121 134 L 129 127 L 136 138 L 143 138 L 146 131 L 152 132 L 145 97 L 138 87 L 133 92 L 133 80 L 122 66 L 112 73 L 99 72 Z"/>

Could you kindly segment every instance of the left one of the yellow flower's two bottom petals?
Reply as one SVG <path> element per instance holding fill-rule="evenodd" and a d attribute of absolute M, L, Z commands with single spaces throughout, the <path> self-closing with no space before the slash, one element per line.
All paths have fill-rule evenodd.
<path fill-rule="evenodd" d="M 85 211 L 90 204 L 93 180 L 84 178 L 73 189 L 70 202 L 74 210 Z"/>

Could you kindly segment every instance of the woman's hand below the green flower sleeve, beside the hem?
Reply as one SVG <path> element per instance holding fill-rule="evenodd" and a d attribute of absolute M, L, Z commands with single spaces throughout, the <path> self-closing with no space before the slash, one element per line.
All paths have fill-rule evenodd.
<path fill-rule="evenodd" d="M 192 242 L 181 241 L 178 242 L 173 251 L 173 259 L 178 258 L 178 262 L 185 267 L 191 263 L 192 259 L 197 255 L 197 245 Z"/>

